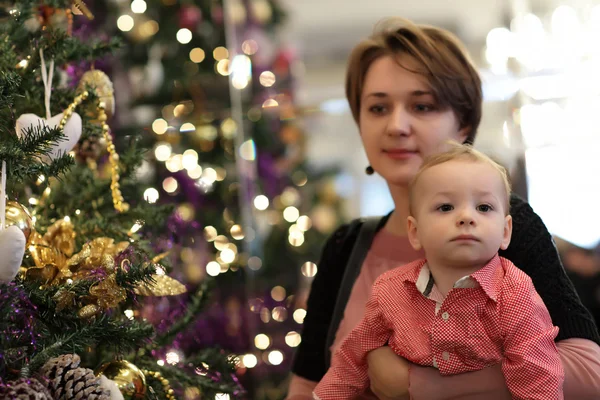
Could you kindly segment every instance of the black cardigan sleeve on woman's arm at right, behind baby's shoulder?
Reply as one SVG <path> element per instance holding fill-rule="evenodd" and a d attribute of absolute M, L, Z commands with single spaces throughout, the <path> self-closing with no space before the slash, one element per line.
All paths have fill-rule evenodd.
<path fill-rule="evenodd" d="M 552 323 L 560 329 L 556 341 L 581 338 L 600 344 L 594 319 L 579 300 L 541 218 L 517 196 L 511 197 L 510 211 L 512 239 L 508 249 L 500 251 L 500 255 L 512 261 L 533 281 Z"/>

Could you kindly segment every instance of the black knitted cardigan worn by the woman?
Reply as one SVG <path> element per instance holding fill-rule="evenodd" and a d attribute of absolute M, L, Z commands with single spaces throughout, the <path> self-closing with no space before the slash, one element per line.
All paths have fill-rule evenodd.
<path fill-rule="evenodd" d="M 500 251 L 500 255 L 531 277 L 552 322 L 560 328 L 556 341 L 583 338 L 600 344 L 594 320 L 565 274 L 552 237 L 541 218 L 517 196 L 511 196 L 510 206 L 512 239 L 508 249 Z M 386 221 L 387 218 L 382 219 L 379 229 Z M 308 298 L 302 341 L 292 366 L 292 371 L 305 379 L 318 382 L 327 371 L 327 332 L 359 227 L 357 223 L 343 225 L 327 240 L 323 249 L 319 272 Z"/>

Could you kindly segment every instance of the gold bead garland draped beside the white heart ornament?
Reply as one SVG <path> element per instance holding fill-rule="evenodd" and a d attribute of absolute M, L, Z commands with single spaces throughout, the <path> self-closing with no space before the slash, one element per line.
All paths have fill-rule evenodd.
<path fill-rule="evenodd" d="M 83 93 L 77 95 L 73 100 L 73 103 L 69 104 L 64 115 L 59 123 L 59 128 L 63 130 L 69 118 L 75 111 L 75 108 L 81 104 L 82 101 L 87 99 L 89 96 L 88 91 L 84 91 Z M 110 127 L 106 123 L 108 117 L 106 116 L 104 103 L 99 101 L 97 105 L 98 110 L 98 120 L 102 123 L 102 134 L 107 143 L 107 149 L 109 153 L 109 162 L 111 166 L 111 183 L 110 189 L 112 191 L 113 205 L 115 206 L 115 210 L 118 212 L 125 212 L 129 210 L 129 204 L 125 202 L 123 195 L 121 194 L 121 189 L 119 186 L 119 155 L 116 152 L 115 145 L 112 142 L 112 138 L 110 137 L 109 129 Z"/>

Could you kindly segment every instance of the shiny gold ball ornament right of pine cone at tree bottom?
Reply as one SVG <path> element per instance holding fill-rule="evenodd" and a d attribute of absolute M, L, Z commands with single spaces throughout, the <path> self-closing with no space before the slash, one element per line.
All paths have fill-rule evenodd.
<path fill-rule="evenodd" d="M 96 376 L 102 375 L 117 384 L 125 400 L 146 398 L 146 377 L 129 361 L 112 361 L 102 365 Z"/>

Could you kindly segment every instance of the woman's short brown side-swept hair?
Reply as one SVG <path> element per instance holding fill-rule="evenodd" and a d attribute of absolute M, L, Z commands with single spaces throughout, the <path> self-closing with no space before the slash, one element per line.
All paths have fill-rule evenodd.
<path fill-rule="evenodd" d="M 481 121 L 483 95 L 481 78 L 466 49 L 446 30 L 416 25 L 403 18 L 389 18 L 377 24 L 371 37 L 350 54 L 346 97 L 356 123 L 369 67 L 380 57 L 401 54 L 408 54 L 422 66 L 413 72 L 425 76 L 440 105 L 454 111 L 461 129 L 469 128 L 465 143 L 473 143 Z"/>

